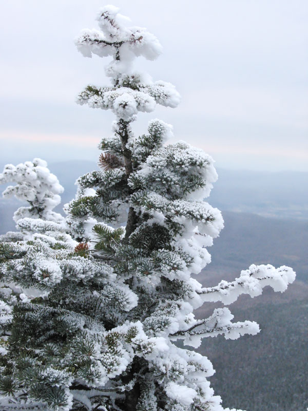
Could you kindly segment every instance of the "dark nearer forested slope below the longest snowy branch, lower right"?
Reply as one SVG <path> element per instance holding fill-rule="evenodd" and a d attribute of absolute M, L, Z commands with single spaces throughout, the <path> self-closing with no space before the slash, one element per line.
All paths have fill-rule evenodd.
<path fill-rule="evenodd" d="M 299 411 L 308 407 L 308 286 L 298 282 L 285 295 L 266 290 L 231 306 L 235 320 L 254 319 L 258 335 L 235 341 L 203 341 L 199 352 L 216 369 L 211 383 L 224 404 L 249 411 Z M 200 317 L 205 312 L 200 309 Z"/>

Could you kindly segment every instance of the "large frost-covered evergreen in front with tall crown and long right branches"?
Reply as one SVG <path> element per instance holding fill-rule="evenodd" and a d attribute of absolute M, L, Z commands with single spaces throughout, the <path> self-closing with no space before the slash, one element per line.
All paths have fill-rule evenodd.
<path fill-rule="evenodd" d="M 227 308 L 204 320 L 192 310 L 267 285 L 284 291 L 295 273 L 252 265 L 210 288 L 191 277 L 223 228 L 203 201 L 217 179 L 213 160 L 185 142 L 165 144 L 171 126 L 160 120 L 133 135 L 138 111 L 175 107 L 179 95 L 133 69 L 135 57 L 160 54 L 152 34 L 127 27 L 113 6 L 97 20 L 101 31 L 84 30 L 76 45 L 112 57 L 111 86 L 88 86 L 79 103 L 111 109 L 113 134 L 100 143 L 102 170 L 78 180 L 67 227 L 27 217 L 18 220 L 24 240 L 1 244 L 0 410 L 221 411 L 210 361 L 175 343 L 198 347 L 259 328 L 232 322 Z"/>

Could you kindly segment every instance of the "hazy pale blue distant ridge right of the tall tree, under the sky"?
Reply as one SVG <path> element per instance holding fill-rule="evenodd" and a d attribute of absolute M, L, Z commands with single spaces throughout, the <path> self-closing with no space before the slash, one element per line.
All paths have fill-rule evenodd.
<path fill-rule="evenodd" d="M 209 202 L 220 210 L 308 219 L 308 173 L 217 172 Z"/>

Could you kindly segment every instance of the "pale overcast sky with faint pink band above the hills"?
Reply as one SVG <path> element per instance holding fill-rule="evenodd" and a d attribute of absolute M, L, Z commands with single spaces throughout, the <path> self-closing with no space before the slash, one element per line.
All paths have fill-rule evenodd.
<path fill-rule="evenodd" d="M 108 59 L 84 58 L 73 39 L 98 28 L 98 0 L 0 0 L 0 161 L 92 159 L 112 113 L 74 103 L 88 83 L 108 84 Z M 174 125 L 217 166 L 308 171 L 307 0 L 118 0 L 164 52 L 136 66 L 170 81 L 176 109 L 139 114 Z"/>

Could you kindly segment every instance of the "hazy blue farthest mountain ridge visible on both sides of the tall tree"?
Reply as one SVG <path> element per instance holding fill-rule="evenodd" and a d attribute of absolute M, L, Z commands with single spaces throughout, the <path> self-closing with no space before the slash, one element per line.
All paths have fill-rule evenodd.
<path fill-rule="evenodd" d="M 78 177 L 99 169 L 97 163 L 87 160 L 54 162 L 49 168 L 65 188 L 62 204 L 75 196 L 74 182 Z M 211 206 L 263 217 L 308 220 L 308 173 L 225 169 L 217 172 L 219 178 L 208 199 Z"/>

